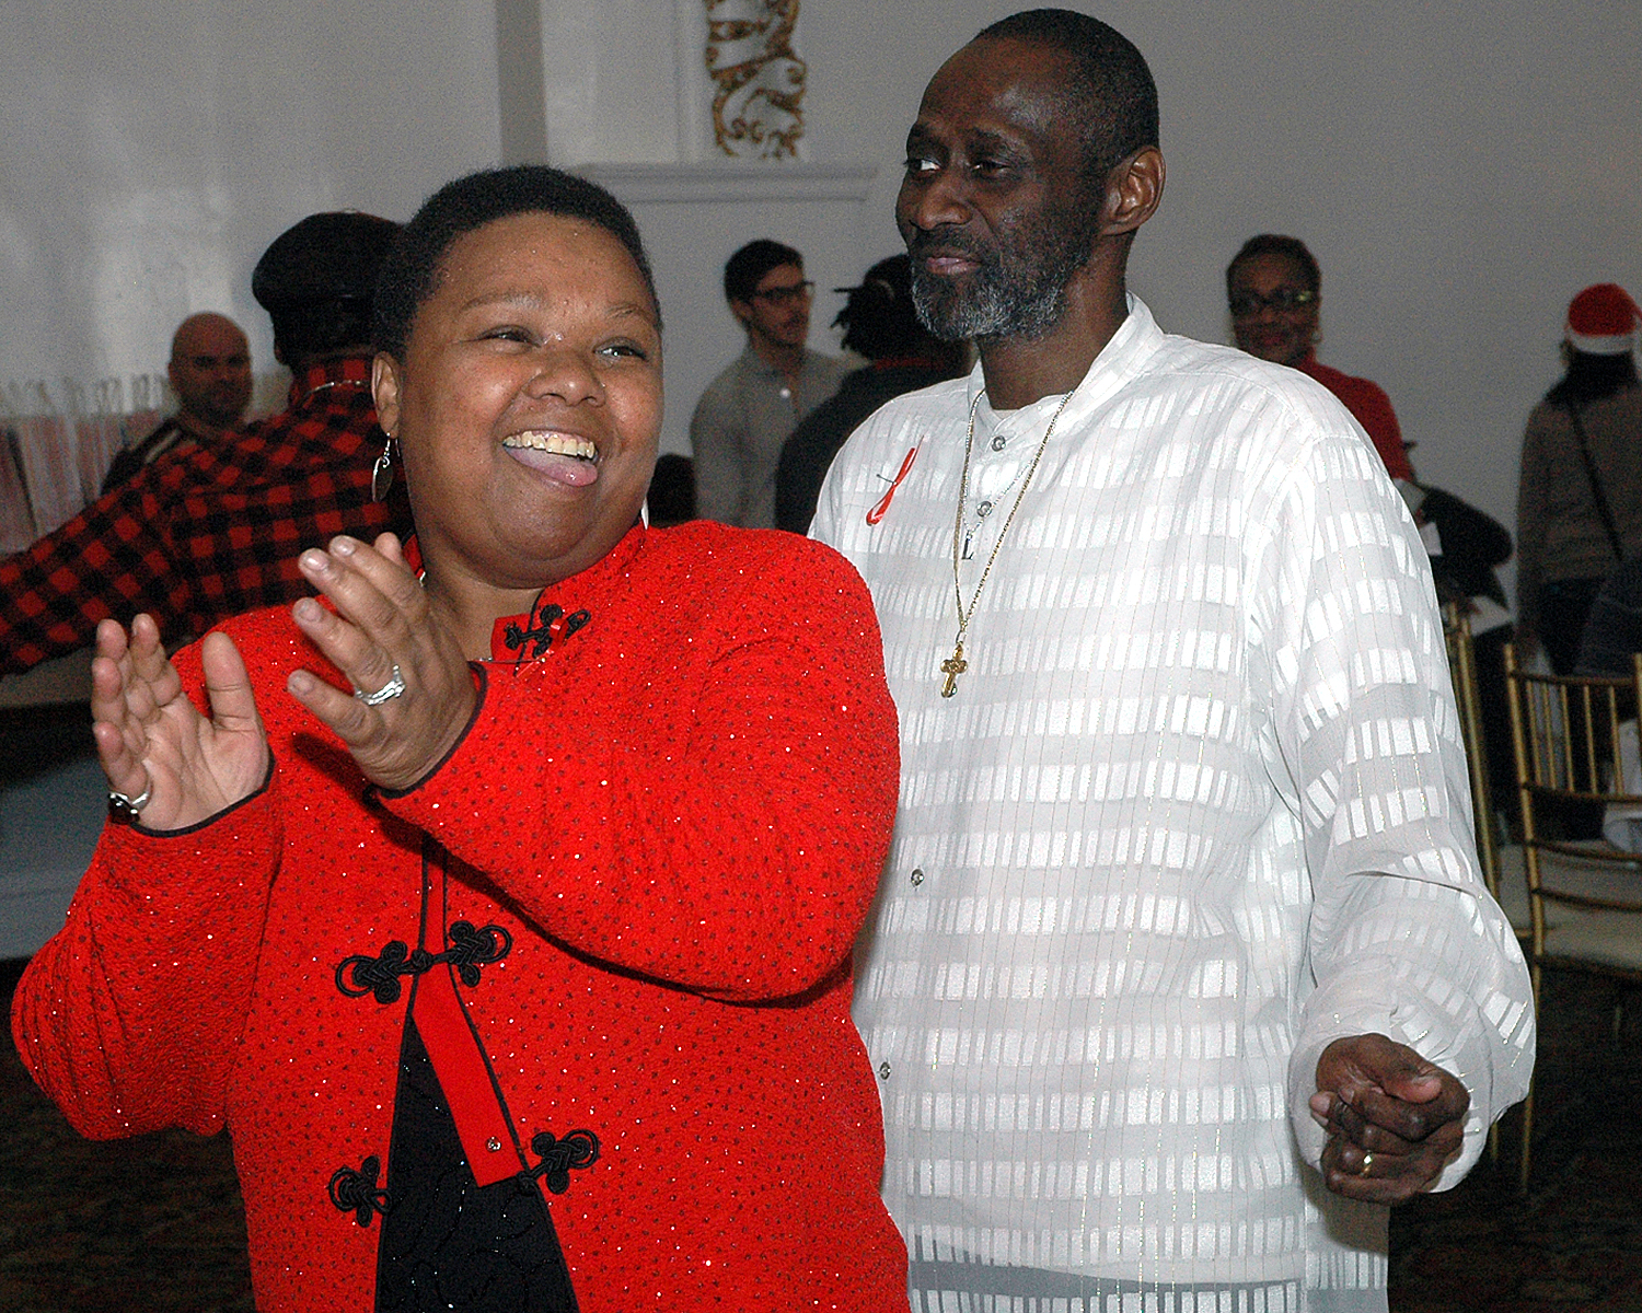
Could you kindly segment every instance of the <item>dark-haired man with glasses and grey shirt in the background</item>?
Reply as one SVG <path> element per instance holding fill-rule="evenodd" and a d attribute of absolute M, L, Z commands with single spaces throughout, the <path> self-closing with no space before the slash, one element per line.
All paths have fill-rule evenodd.
<path fill-rule="evenodd" d="M 805 345 L 813 294 L 805 258 L 780 241 L 749 241 L 724 264 L 724 299 L 747 348 L 708 384 L 690 420 L 696 510 L 706 520 L 775 525 L 782 445 L 849 373 Z"/>

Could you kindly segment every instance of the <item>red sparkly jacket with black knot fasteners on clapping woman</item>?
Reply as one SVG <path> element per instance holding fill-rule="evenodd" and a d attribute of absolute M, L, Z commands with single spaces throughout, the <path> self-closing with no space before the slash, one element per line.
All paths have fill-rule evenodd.
<path fill-rule="evenodd" d="M 897 727 L 842 558 L 635 528 L 498 625 L 466 737 L 397 798 L 284 693 L 297 666 L 338 678 L 286 611 L 225 630 L 269 785 L 192 830 L 110 826 L 13 1034 L 89 1136 L 232 1131 L 258 1308 L 373 1306 L 368 1164 L 389 1155 L 412 993 L 392 963 L 419 942 L 425 852 L 450 853 L 429 942 L 466 942 L 476 983 L 460 952 L 432 970 L 493 1082 L 447 1082 L 463 1144 L 486 1159 L 496 1128 L 479 1167 L 506 1177 L 539 1132 L 598 1136 L 544 1188 L 585 1313 L 906 1308 L 847 965 Z M 204 704 L 195 648 L 179 668 Z"/>

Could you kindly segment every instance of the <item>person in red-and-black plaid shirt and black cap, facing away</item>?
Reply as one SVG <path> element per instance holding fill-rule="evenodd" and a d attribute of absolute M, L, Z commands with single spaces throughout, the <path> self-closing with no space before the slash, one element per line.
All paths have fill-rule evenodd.
<path fill-rule="evenodd" d="M 251 276 L 291 368 L 286 410 L 222 446 L 159 456 L 33 547 L 0 561 L 0 675 L 90 647 L 97 622 L 159 622 L 167 645 L 312 589 L 297 553 L 337 533 L 410 532 L 402 481 L 371 496 L 386 438 L 371 404 L 371 291 L 397 233 L 320 213 Z"/>

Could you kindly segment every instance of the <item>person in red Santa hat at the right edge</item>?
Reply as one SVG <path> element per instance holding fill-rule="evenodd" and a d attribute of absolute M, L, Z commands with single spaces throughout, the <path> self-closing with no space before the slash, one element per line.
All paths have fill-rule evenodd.
<path fill-rule="evenodd" d="M 1568 305 L 1568 371 L 1529 415 L 1517 484 L 1517 652 L 1570 675 L 1603 581 L 1642 555 L 1642 309 L 1614 282 Z"/>

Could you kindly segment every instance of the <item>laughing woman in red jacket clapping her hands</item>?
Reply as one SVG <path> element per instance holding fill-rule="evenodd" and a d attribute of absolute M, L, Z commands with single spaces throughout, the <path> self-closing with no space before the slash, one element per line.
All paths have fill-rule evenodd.
<path fill-rule="evenodd" d="M 417 525 L 169 661 L 97 635 L 112 819 L 13 1036 L 89 1136 L 227 1128 L 264 1310 L 906 1306 L 851 945 L 897 724 L 818 543 L 650 530 L 627 212 L 475 174 L 378 284 Z"/>

